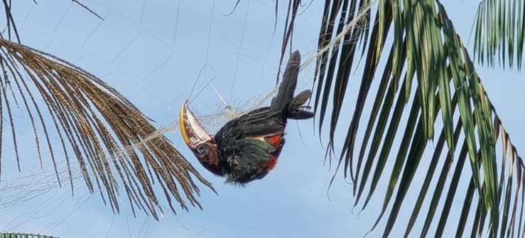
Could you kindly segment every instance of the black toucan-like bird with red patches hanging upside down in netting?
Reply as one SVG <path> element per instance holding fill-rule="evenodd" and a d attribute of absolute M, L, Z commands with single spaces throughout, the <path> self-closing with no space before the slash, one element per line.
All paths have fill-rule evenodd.
<path fill-rule="evenodd" d="M 315 113 L 305 103 L 310 90 L 294 95 L 301 66 L 301 54 L 293 52 L 283 79 L 270 106 L 254 109 L 229 120 L 215 135 L 210 135 L 183 102 L 179 127 L 183 140 L 197 160 L 226 183 L 247 184 L 263 179 L 276 166 L 285 143 L 288 119 L 307 120 Z"/>

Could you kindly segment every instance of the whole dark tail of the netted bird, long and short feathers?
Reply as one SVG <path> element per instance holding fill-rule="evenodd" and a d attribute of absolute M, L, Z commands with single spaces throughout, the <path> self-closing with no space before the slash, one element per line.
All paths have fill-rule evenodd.
<path fill-rule="evenodd" d="M 313 118 L 314 113 L 305 110 L 309 109 L 310 106 L 303 106 L 312 96 L 310 90 L 302 91 L 293 97 L 293 93 L 296 91 L 299 67 L 301 67 L 301 53 L 296 50 L 288 60 L 277 95 L 271 99 L 271 111 L 282 111 L 286 118 L 303 120 Z"/>

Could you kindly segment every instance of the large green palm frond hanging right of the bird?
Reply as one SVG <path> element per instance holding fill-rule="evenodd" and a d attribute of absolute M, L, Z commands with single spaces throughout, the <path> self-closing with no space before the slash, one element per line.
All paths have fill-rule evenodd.
<path fill-rule="evenodd" d="M 465 230 L 472 236 L 487 231 L 491 237 L 524 235 L 523 161 L 439 1 L 326 1 L 319 37 L 314 90 L 318 128 L 321 132 L 330 125 L 328 144 L 335 152 L 340 143 L 335 132 L 343 126 L 340 115 L 353 111 L 338 169 L 353 181 L 354 205 L 366 208 L 379 180 L 388 181 L 374 228 L 386 216 L 388 236 L 401 205 L 408 203 L 413 212 L 406 236 L 413 235 L 418 220 L 424 221 L 413 235 L 418 237 L 426 237 L 431 225 L 437 237 L 445 227 L 455 228 L 459 237 Z M 349 90 L 354 63 L 361 60 L 359 89 Z M 379 86 L 372 85 L 376 78 Z M 345 101 L 347 94 L 357 94 L 354 106 Z M 397 149 L 394 142 L 399 142 Z M 431 158 L 423 157 L 428 149 L 433 149 Z M 428 167 L 423 159 L 430 159 Z M 463 170 L 466 161 L 470 173 Z M 426 177 L 414 188 L 418 171 Z M 419 191 L 417 199 L 406 197 L 409 188 Z M 463 201 L 459 224 L 448 222 L 454 200 Z M 429 205 L 427 212 L 423 203 Z M 472 224 L 466 224 L 468 217 Z"/>

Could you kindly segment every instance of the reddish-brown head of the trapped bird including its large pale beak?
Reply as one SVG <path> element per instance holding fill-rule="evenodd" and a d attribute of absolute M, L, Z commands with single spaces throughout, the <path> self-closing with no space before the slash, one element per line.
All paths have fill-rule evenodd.
<path fill-rule="evenodd" d="M 213 174 L 223 176 L 217 143 L 190 111 L 188 100 L 184 101 L 183 106 L 180 107 L 179 127 L 184 142 L 190 147 L 200 164 Z"/>

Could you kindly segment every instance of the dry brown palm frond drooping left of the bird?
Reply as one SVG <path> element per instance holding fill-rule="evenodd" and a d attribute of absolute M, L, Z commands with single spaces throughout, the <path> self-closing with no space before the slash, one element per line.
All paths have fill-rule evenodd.
<path fill-rule="evenodd" d="M 96 186 L 104 203 L 109 200 L 114 212 L 119 212 L 117 196 L 121 186 L 134 214 L 139 208 L 156 219 L 158 212 L 163 211 L 153 183 L 160 185 L 173 212 L 172 198 L 185 210 L 188 202 L 200 208 L 195 198 L 200 191 L 193 178 L 213 190 L 172 143 L 156 132 L 144 114 L 89 72 L 4 38 L 0 38 L 0 67 L 0 135 L 7 116 L 18 169 L 13 103 L 21 103 L 28 113 L 40 163 L 44 159 L 40 148 L 45 145 L 60 181 L 57 149 L 64 153 L 68 168 L 70 160 L 76 158 L 87 187 L 94 192 Z M 52 123 L 46 123 L 46 115 L 50 115 Z M 52 131 L 60 139 L 59 146 L 50 140 Z"/>

